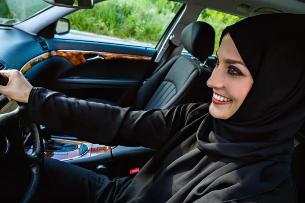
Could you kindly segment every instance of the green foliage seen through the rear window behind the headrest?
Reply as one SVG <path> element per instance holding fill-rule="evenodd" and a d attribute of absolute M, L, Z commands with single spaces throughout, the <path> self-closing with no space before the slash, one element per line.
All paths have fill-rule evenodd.
<path fill-rule="evenodd" d="M 203 21 L 210 24 L 215 29 L 215 49 L 213 55 L 216 55 L 216 51 L 219 48 L 219 41 L 221 37 L 222 30 L 227 26 L 230 26 L 243 18 L 239 16 L 234 16 L 228 13 L 223 13 L 220 11 L 215 11 L 211 9 L 204 9 L 197 21 Z"/>

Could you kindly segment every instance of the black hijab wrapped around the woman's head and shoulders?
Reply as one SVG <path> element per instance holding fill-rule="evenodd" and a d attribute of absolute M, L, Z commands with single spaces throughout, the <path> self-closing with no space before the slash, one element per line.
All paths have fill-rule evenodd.
<path fill-rule="evenodd" d="M 305 117 L 304 22 L 305 15 L 266 14 L 223 31 L 222 38 L 229 32 L 254 83 L 231 118 L 208 115 L 197 132 L 198 148 L 216 156 L 215 163 L 226 163 L 211 165 L 209 179 L 200 184 L 206 202 L 261 194 L 289 176 L 292 137 Z"/>

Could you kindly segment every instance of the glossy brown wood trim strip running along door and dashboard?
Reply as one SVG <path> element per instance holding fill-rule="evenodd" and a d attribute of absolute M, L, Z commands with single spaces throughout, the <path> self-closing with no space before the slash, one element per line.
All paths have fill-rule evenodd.
<path fill-rule="evenodd" d="M 117 54 L 117 53 L 94 52 L 94 51 L 56 50 L 41 54 L 40 56 L 37 56 L 32 60 L 28 61 L 21 68 L 20 72 L 24 75 L 34 65 L 53 56 L 61 56 L 68 59 L 75 66 L 80 65 L 87 62 L 86 59 L 84 58 L 85 54 L 99 55 L 104 57 L 106 60 L 114 60 L 114 59 L 147 60 L 147 61 L 151 60 L 151 57 L 130 55 L 130 54 Z"/>

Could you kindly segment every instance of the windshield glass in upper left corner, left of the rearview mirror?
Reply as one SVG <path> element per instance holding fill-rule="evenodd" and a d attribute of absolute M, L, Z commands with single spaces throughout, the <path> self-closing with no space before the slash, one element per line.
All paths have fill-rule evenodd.
<path fill-rule="evenodd" d="M 0 24 L 17 24 L 48 6 L 43 0 L 0 0 Z"/>

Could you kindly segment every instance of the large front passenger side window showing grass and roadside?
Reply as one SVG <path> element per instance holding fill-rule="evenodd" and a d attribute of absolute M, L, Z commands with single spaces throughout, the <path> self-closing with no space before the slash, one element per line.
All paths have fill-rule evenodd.
<path fill-rule="evenodd" d="M 164 0 L 108 0 L 66 16 L 70 33 L 55 38 L 155 48 L 183 4 Z"/>

